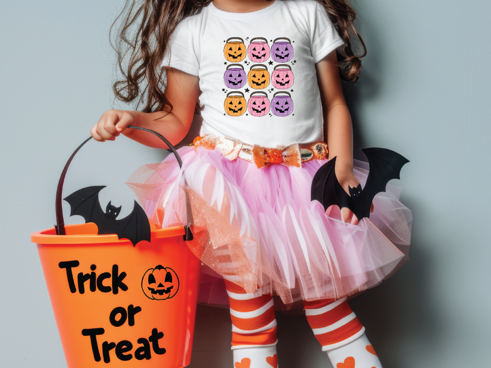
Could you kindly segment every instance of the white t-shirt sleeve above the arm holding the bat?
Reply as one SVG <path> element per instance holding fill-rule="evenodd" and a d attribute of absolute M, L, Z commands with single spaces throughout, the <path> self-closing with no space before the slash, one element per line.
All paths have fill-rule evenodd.
<path fill-rule="evenodd" d="M 326 9 L 315 2 L 309 7 L 310 51 L 314 63 L 321 61 L 331 51 L 344 45 L 344 41 L 329 20 Z"/>

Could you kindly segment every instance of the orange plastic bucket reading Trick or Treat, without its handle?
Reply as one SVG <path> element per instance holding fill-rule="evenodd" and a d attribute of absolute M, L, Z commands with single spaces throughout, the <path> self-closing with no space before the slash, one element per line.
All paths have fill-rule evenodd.
<path fill-rule="evenodd" d="M 63 229 L 31 240 L 68 367 L 188 366 L 201 262 L 185 228 L 151 225 L 150 241 L 136 246 L 92 222 Z"/>

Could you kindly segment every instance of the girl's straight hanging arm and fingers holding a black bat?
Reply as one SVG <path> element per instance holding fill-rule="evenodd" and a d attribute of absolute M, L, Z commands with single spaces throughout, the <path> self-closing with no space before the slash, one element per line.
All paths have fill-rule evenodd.
<path fill-rule="evenodd" d="M 336 157 L 336 177 L 344 190 L 358 186 L 353 175 L 353 127 L 348 105 L 343 95 L 336 51 L 329 53 L 315 64 L 317 81 L 321 92 L 325 121 L 325 139 L 329 149 L 329 158 Z M 341 209 L 345 222 L 356 225 L 358 219 L 347 208 Z"/>

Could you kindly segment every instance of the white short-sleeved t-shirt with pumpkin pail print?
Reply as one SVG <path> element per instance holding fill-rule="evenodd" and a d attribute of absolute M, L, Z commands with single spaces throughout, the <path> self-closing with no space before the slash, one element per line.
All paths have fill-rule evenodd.
<path fill-rule="evenodd" d="M 286 146 L 323 140 L 314 64 L 343 43 L 313 0 L 251 13 L 211 3 L 177 26 L 162 65 L 199 77 L 201 134 Z"/>

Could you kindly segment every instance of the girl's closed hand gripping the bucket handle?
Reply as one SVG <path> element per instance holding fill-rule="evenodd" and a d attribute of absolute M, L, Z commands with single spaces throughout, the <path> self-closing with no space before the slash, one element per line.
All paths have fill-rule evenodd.
<path fill-rule="evenodd" d="M 99 142 L 114 140 L 133 123 L 135 123 L 133 111 L 111 109 L 102 114 L 97 124 L 90 130 L 90 134 Z"/>

